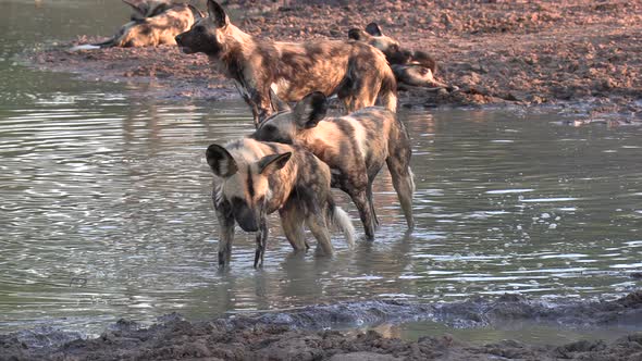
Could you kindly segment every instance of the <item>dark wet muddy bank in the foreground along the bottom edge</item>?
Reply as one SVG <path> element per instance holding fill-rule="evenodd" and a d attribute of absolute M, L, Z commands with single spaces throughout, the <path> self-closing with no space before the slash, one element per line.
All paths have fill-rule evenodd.
<path fill-rule="evenodd" d="M 613 343 L 579 340 L 533 346 L 518 340 L 472 345 L 445 335 L 407 341 L 376 332 L 329 328 L 434 320 L 455 326 L 492 326 L 519 320 L 567 327 L 640 325 L 642 292 L 614 301 L 550 303 L 506 295 L 495 300 L 413 304 L 395 301 L 314 306 L 287 312 L 188 322 L 177 314 L 150 327 L 119 321 L 95 339 L 53 329 L 0 336 L 2 360 L 640 360 L 642 333 Z"/>

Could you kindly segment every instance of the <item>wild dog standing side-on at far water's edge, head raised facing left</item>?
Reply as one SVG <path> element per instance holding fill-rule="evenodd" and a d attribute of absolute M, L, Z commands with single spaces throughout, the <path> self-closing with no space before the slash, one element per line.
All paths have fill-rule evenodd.
<path fill-rule="evenodd" d="M 235 80 L 250 105 L 255 125 L 272 113 L 270 89 L 298 101 L 311 91 L 336 94 L 347 112 L 381 103 L 395 111 L 396 82 L 381 51 L 358 41 L 259 40 L 230 23 L 221 5 L 208 0 L 202 18 L 176 42 L 185 53 L 206 53 L 215 69 Z"/>

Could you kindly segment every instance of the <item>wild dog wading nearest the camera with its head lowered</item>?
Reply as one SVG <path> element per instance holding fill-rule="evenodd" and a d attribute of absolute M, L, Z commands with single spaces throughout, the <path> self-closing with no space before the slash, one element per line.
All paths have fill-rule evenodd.
<path fill-rule="evenodd" d="M 219 220 L 219 264 L 230 263 L 234 224 L 258 232 L 255 267 L 263 264 L 268 239 L 267 215 L 279 211 L 285 237 L 295 250 L 307 249 L 304 223 L 318 248 L 332 254 L 326 216 L 343 231 L 348 245 L 355 228 L 348 215 L 334 204 L 330 167 L 297 146 L 261 142 L 249 138 L 221 147 L 211 145 L 206 158 L 217 182 L 212 198 Z"/>

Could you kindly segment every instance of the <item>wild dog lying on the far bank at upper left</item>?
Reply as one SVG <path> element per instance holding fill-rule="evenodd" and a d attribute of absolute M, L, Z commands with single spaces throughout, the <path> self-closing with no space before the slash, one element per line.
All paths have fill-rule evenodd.
<path fill-rule="evenodd" d="M 131 21 L 123 25 L 111 39 L 77 46 L 72 50 L 175 45 L 174 37 L 188 30 L 197 20 L 202 17 L 198 9 L 186 3 L 173 3 L 166 0 L 123 0 L 123 2 L 132 7 L 134 13 Z"/>

